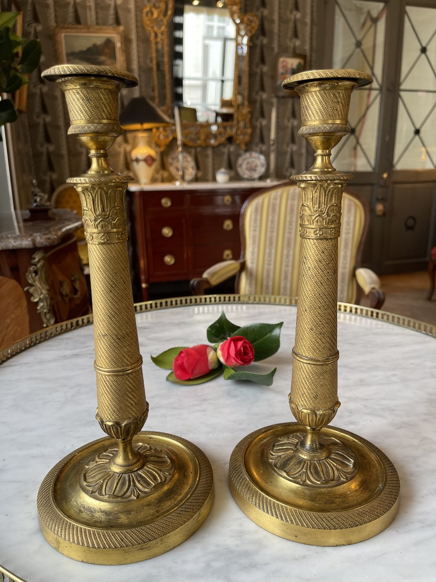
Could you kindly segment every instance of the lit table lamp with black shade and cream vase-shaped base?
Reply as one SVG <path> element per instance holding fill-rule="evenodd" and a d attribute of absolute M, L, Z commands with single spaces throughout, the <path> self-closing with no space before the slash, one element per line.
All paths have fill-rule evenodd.
<path fill-rule="evenodd" d="M 134 97 L 121 111 L 120 124 L 126 132 L 138 132 L 130 153 L 132 167 L 140 184 L 151 183 L 158 160 L 158 154 L 152 148 L 151 129 L 174 125 L 174 122 L 146 97 Z"/>

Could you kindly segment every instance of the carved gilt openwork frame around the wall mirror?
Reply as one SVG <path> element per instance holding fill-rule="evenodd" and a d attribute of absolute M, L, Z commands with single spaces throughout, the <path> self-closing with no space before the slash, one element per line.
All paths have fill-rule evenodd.
<path fill-rule="evenodd" d="M 220 145 L 229 137 L 245 149 L 251 137 L 251 109 L 249 107 L 249 53 L 251 37 L 258 28 L 258 16 L 253 12 L 244 13 L 241 0 L 224 0 L 236 28 L 235 69 L 233 82 L 234 119 L 220 123 L 182 123 L 183 143 L 189 147 Z M 169 21 L 173 16 L 174 0 L 145 0 L 142 22 L 151 40 L 153 63 L 153 92 L 157 105 L 171 115 L 171 71 L 169 49 Z M 157 48 L 162 51 L 162 65 L 159 67 Z M 240 59 L 245 59 L 241 70 Z M 165 74 L 165 99 L 159 94 L 159 74 Z M 153 128 L 153 139 L 160 151 L 165 150 L 176 137 L 175 127 Z"/>

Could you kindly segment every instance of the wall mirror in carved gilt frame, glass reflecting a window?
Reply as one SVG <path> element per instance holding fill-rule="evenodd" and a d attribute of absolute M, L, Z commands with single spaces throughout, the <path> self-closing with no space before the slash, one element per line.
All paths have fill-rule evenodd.
<path fill-rule="evenodd" d="M 145 0 L 151 40 L 153 100 L 181 111 L 183 143 L 208 147 L 228 138 L 245 149 L 251 137 L 249 50 L 258 27 L 242 0 Z M 163 150 L 174 127 L 153 130 Z"/>

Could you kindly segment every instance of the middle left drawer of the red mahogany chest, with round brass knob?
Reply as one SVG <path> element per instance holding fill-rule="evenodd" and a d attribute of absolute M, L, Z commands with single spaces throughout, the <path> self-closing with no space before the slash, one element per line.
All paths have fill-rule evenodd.
<path fill-rule="evenodd" d="M 153 250 L 181 249 L 186 245 L 186 219 L 180 213 L 165 216 L 165 212 L 159 212 L 146 219 L 146 236 Z"/>

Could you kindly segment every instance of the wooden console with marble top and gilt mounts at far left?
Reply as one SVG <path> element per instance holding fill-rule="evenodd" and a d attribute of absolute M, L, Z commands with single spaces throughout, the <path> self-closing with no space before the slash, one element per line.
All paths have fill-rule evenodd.
<path fill-rule="evenodd" d="M 47 219 L 33 220 L 26 212 L 15 225 L 0 217 L 0 275 L 25 290 L 33 333 L 89 313 L 90 304 L 73 234 L 82 225 L 80 217 L 58 209 Z"/>

